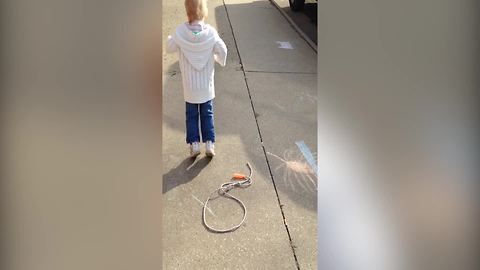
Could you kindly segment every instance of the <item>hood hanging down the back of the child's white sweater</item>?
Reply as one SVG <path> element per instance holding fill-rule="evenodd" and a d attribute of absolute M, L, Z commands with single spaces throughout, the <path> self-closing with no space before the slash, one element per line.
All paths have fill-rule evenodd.
<path fill-rule="evenodd" d="M 188 29 L 186 24 L 181 24 L 172 38 L 192 67 L 202 70 L 212 57 L 217 34 L 208 24 L 197 34 Z"/>

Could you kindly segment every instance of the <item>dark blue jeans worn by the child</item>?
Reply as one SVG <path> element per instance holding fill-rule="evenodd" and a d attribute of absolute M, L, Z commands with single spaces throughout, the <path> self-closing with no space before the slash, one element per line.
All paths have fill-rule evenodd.
<path fill-rule="evenodd" d="M 200 142 L 200 127 L 202 141 L 215 142 L 215 128 L 213 125 L 213 99 L 201 104 L 185 102 L 187 143 Z"/>

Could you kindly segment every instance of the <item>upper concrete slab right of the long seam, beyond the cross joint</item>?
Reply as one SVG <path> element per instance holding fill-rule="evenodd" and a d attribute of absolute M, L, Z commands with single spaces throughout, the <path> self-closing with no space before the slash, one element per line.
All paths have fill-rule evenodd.
<path fill-rule="evenodd" d="M 270 1 L 227 0 L 225 4 L 246 71 L 316 72 L 313 49 Z M 290 42 L 293 50 L 278 48 L 278 41 Z"/>

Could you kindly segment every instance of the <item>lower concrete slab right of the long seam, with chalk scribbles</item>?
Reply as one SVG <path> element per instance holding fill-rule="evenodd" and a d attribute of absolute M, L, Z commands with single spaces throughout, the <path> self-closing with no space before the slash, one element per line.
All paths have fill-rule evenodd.
<path fill-rule="evenodd" d="M 316 75 L 247 73 L 262 138 L 301 269 L 316 269 L 317 183 L 296 145 L 317 149 Z"/>

